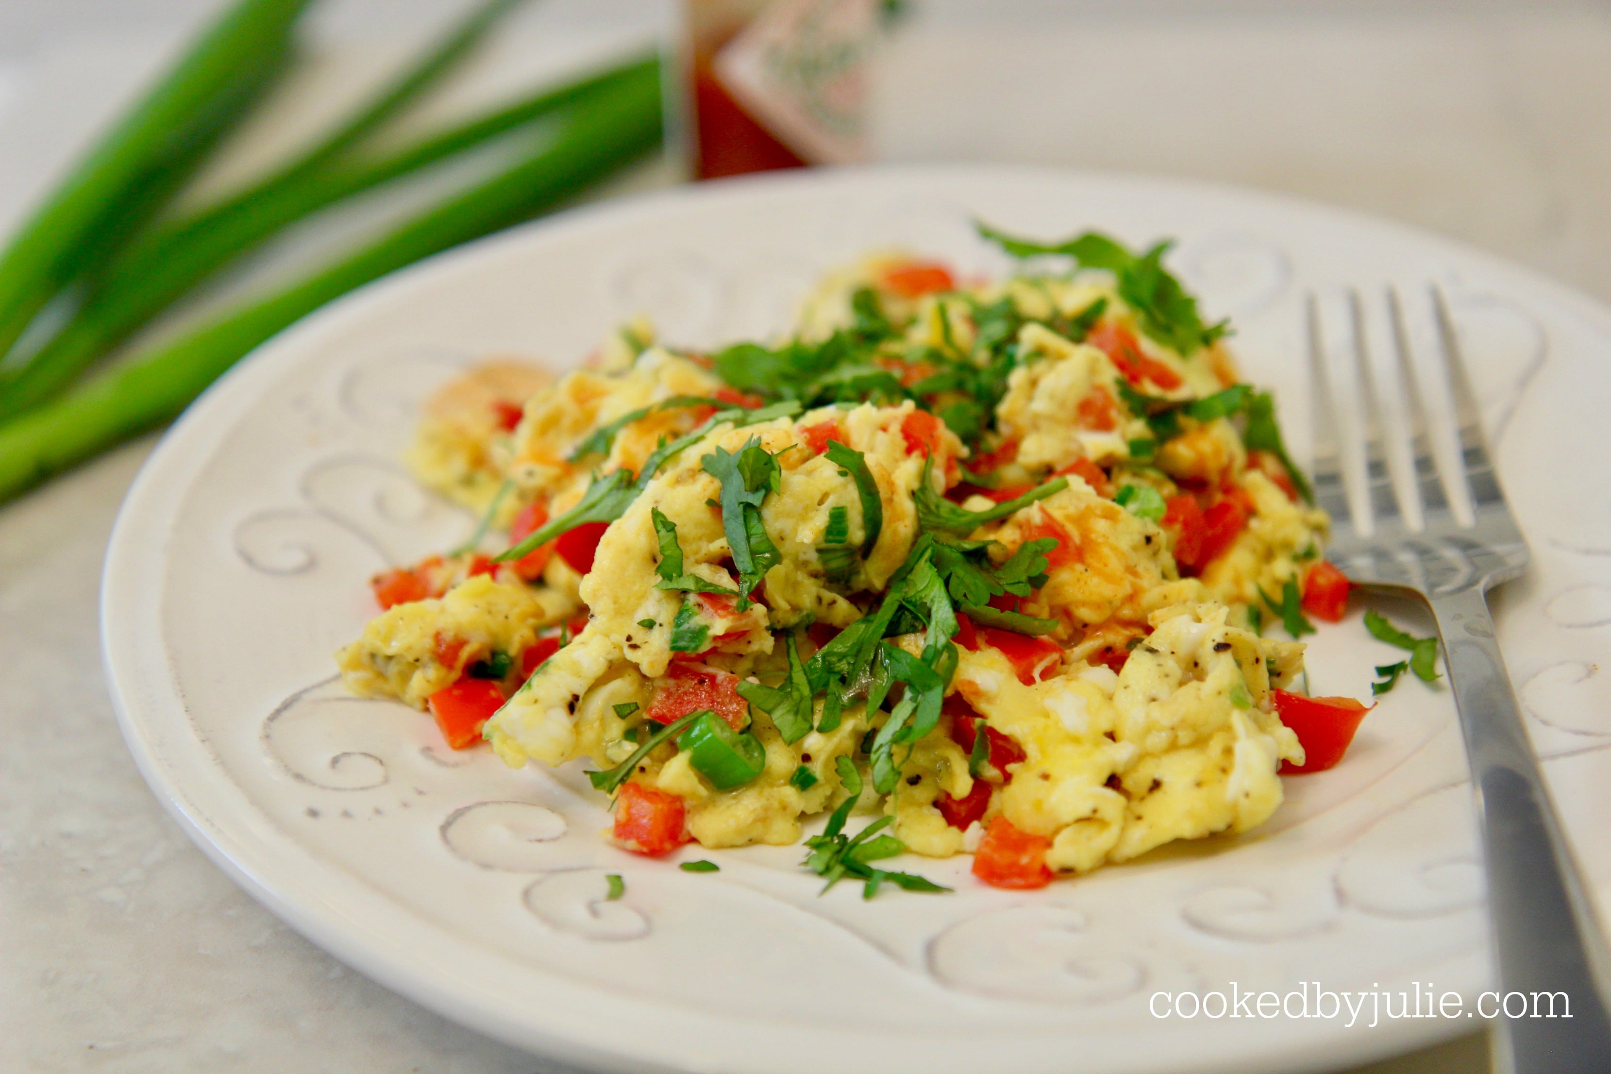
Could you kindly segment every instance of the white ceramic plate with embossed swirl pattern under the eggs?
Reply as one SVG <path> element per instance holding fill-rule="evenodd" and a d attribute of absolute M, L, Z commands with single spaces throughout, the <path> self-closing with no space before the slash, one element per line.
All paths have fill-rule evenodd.
<path fill-rule="evenodd" d="M 1287 200 L 1152 179 L 933 167 L 707 185 L 565 214 L 437 258 L 263 346 L 169 433 L 111 541 L 106 663 L 124 734 L 240 884 L 377 981 L 553 1058 L 607 1069 L 1020 1074 L 1297 1071 L 1471 1021 L 1157 1019 L 1158 990 L 1485 987 L 1469 791 L 1447 691 L 1406 680 L 1261 832 L 1041 892 L 968 858 L 952 895 L 818 897 L 799 847 L 636 858 L 578 771 L 446 750 L 429 717 L 346 697 L 332 652 L 367 576 L 472 520 L 396 459 L 425 391 L 491 353 L 575 364 L 625 316 L 710 345 L 780 328 L 814 275 L 902 245 L 1005 269 L 968 225 L 1179 237 L 1249 377 L 1307 444 L 1305 296 L 1450 295 L 1534 567 L 1500 599 L 1511 673 L 1605 892 L 1611 697 L 1611 314 L 1452 243 Z M 1411 303 L 1414 320 L 1414 303 Z M 1414 328 L 1414 325 L 1411 325 Z M 1405 622 L 1424 628 L 1413 609 Z M 1313 639 L 1315 692 L 1365 696 L 1358 609 Z M 709 857 L 717 874 L 677 860 Z M 627 895 L 603 902 L 604 873 Z"/>

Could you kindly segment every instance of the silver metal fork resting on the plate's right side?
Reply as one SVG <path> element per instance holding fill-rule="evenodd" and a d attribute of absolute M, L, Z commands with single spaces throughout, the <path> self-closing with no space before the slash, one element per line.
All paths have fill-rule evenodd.
<path fill-rule="evenodd" d="M 1437 620 L 1471 762 L 1500 992 L 1527 997 L 1521 1018 L 1501 1002 L 1495 1069 L 1611 1071 L 1611 956 L 1489 617 L 1487 591 L 1522 573 L 1527 543 L 1493 473 L 1448 303 L 1435 287 L 1406 295 L 1424 299 L 1426 316 L 1408 316 L 1392 287 L 1381 306 L 1348 291 L 1329 325 L 1308 299 L 1327 559 L 1360 586 L 1424 597 Z M 1411 338 L 1411 327 L 1426 330 Z M 1571 1018 L 1527 1018 L 1545 1010 L 1535 993 L 1559 992 Z"/>

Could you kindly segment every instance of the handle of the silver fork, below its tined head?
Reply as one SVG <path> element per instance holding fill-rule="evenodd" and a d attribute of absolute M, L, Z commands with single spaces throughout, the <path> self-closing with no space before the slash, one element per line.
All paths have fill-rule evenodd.
<path fill-rule="evenodd" d="M 1432 597 L 1431 604 L 1471 762 L 1501 1005 L 1511 992 L 1527 998 L 1521 1018 L 1501 1010 L 1505 1024 L 1493 1035 L 1495 1069 L 1611 1069 L 1611 1019 L 1601 998 L 1611 960 L 1522 726 L 1487 597 L 1477 586 Z M 1571 1018 L 1529 1018 L 1535 992 L 1566 992 Z M 1511 1000 L 1511 1006 L 1521 1002 Z M 1539 1010 L 1547 1011 L 1548 1002 Z"/>

